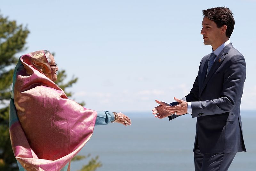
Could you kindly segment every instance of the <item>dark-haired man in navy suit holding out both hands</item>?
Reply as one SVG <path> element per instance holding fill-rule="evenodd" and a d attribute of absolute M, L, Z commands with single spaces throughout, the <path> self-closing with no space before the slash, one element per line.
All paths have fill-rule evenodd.
<path fill-rule="evenodd" d="M 235 20 L 226 7 L 203 10 L 201 34 L 212 53 L 201 60 L 190 93 L 168 104 L 156 100 L 155 117 L 191 114 L 197 117 L 194 160 L 196 171 L 228 170 L 236 152 L 246 151 L 240 103 L 246 77 L 244 56 L 229 38 Z"/>

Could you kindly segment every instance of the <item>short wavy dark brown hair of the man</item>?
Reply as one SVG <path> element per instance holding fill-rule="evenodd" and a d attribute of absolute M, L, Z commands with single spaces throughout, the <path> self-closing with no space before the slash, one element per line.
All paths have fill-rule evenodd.
<path fill-rule="evenodd" d="M 220 28 L 224 25 L 227 26 L 226 36 L 230 38 L 234 26 L 235 20 L 232 11 L 227 7 L 215 7 L 203 10 L 203 15 L 208 19 L 214 21 L 217 27 Z"/>

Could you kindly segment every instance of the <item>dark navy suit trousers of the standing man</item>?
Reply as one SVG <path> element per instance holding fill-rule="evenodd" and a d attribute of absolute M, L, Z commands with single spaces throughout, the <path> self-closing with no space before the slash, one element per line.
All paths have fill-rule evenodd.
<path fill-rule="evenodd" d="M 207 153 L 200 152 L 196 143 L 194 151 L 195 171 L 227 171 L 236 153 Z"/>

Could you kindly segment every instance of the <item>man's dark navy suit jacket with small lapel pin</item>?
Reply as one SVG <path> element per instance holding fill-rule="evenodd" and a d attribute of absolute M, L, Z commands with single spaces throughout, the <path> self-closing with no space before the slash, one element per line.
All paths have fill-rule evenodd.
<path fill-rule="evenodd" d="M 244 56 L 229 43 L 206 77 L 210 55 L 201 60 L 193 88 L 182 99 L 191 101 L 192 117 L 197 117 L 195 145 L 197 142 L 202 153 L 246 151 L 240 116 L 246 77 Z M 169 116 L 169 119 L 177 116 Z"/>

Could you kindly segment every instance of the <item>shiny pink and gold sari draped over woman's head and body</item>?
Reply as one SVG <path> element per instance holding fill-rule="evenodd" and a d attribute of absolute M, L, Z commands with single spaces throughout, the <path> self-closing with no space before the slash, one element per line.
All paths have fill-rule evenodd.
<path fill-rule="evenodd" d="M 92 136 L 96 117 L 96 111 L 68 99 L 52 81 L 43 50 L 20 56 L 9 116 L 19 166 L 27 171 L 70 170 L 70 160 Z"/>

